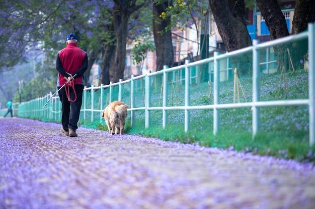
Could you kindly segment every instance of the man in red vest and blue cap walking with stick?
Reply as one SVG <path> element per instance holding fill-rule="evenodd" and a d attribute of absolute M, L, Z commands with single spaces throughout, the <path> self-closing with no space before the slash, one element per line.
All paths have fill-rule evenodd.
<path fill-rule="evenodd" d="M 77 122 L 80 117 L 82 96 L 84 89 L 84 73 L 88 69 L 88 55 L 77 47 L 75 34 L 68 34 L 66 47 L 58 52 L 56 60 L 58 73 L 57 88 L 59 89 L 66 82 L 66 85 L 59 91 L 61 108 L 61 132 L 67 136 L 77 136 Z M 72 80 L 72 76 L 76 77 Z M 67 91 L 66 91 L 67 90 Z"/>

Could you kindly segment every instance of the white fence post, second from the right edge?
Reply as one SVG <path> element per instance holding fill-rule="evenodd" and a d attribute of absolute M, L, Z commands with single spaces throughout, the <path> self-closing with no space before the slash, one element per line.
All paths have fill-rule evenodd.
<path fill-rule="evenodd" d="M 259 102 L 259 51 L 257 49 L 258 40 L 253 40 L 253 133 L 255 138 L 259 129 L 259 108 L 255 102 Z"/>

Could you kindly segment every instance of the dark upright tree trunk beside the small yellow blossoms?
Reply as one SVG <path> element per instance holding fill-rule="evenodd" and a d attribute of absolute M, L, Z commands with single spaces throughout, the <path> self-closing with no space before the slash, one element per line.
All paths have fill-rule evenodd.
<path fill-rule="evenodd" d="M 165 28 L 171 24 L 171 18 L 160 18 L 160 15 L 162 12 L 165 12 L 168 6 L 168 1 L 162 4 L 153 3 L 153 36 L 156 49 L 156 71 L 162 70 L 164 65 L 173 67 L 174 64 L 172 33 L 170 30 L 165 31 Z M 156 23 L 156 19 L 160 19 L 161 24 Z"/>

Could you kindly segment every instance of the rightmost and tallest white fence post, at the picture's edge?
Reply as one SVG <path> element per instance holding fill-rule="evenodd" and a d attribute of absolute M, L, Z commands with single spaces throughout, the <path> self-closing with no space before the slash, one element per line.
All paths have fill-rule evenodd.
<path fill-rule="evenodd" d="M 314 23 L 308 23 L 308 114 L 309 114 L 309 146 L 314 146 L 315 140 L 315 33 Z"/>

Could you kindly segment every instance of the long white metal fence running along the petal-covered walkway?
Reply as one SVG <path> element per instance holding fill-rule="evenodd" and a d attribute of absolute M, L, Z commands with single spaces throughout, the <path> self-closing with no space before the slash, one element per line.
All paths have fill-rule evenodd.
<path fill-rule="evenodd" d="M 308 98 L 307 99 L 291 99 L 291 100 L 276 100 L 276 101 L 260 101 L 260 88 L 259 88 L 259 80 L 260 80 L 260 65 L 267 64 L 267 72 L 268 72 L 268 63 L 275 61 L 266 61 L 260 62 L 260 52 L 262 50 L 266 50 L 267 54 L 269 49 L 273 46 L 279 44 L 285 44 L 288 42 L 299 41 L 302 39 L 308 40 L 308 56 L 309 56 L 309 70 L 308 70 Z M 105 108 L 105 104 L 108 104 L 114 100 L 127 100 L 130 104 L 129 112 L 131 119 L 131 126 L 134 125 L 135 113 L 137 111 L 144 111 L 145 115 L 145 128 L 150 126 L 150 112 L 151 111 L 161 111 L 162 112 L 162 120 L 163 120 L 163 128 L 167 126 L 168 121 L 168 111 L 169 110 L 183 110 L 185 115 L 184 122 L 184 130 L 187 132 L 190 128 L 190 111 L 191 110 L 202 110 L 202 109 L 212 109 L 213 110 L 213 133 L 216 134 L 219 130 L 220 126 L 220 109 L 231 109 L 231 108 L 252 108 L 252 135 L 255 137 L 259 130 L 259 118 L 260 118 L 260 108 L 262 107 L 277 107 L 277 106 L 296 106 L 296 105 L 307 105 L 308 106 L 308 114 L 309 114 L 309 145 L 314 145 L 315 138 L 315 129 L 314 129 L 314 118 L 315 118 L 315 105 L 314 105 L 314 95 L 315 95 L 315 78 L 314 78 L 314 24 L 308 25 L 308 31 L 303 32 L 294 36 L 285 37 L 282 39 L 277 39 L 274 41 L 266 42 L 258 44 L 256 40 L 253 42 L 253 46 L 247 47 L 238 51 L 233 51 L 226 54 L 219 55 L 218 53 L 214 54 L 214 57 L 208 58 L 205 60 L 189 63 L 186 62 L 185 65 L 167 68 L 164 70 L 148 73 L 146 75 L 141 76 L 132 76 L 131 79 L 122 81 L 118 83 L 110 83 L 109 85 L 102 85 L 99 87 L 90 87 L 85 88 L 84 93 L 84 101 L 82 107 L 83 120 L 91 120 L 95 119 L 94 113 L 96 113 L 97 119 L 100 119 L 101 112 Z M 253 92 L 252 92 L 252 101 L 251 102 L 243 102 L 243 103 L 229 103 L 229 104 L 221 104 L 219 99 L 219 89 L 220 89 L 220 61 L 226 62 L 226 59 L 239 55 L 242 53 L 252 53 L 253 57 Z M 268 56 L 267 56 L 268 57 Z M 268 58 L 267 58 L 268 59 Z M 190 88 L 192 84 L 192 69 L 197 69 L 195 75 L 198 77 L 198 73 L 200 72 L 200 66 L 208 65 L 208 75 L 211 76 L 213 73 L 213 104 L 211 105 L 199 105 L 199 106 L 191 106 L 190 104 Z M 213 71 L 211 70 L 213 69 Z M 228 67 L 228 63 L 226 64 L 226 71 L 231 70 Z M 178 73 L 181 72 L 181 73 Z M 185 73 L 184 73 L 185 72 Z M 175 80 L 176 73 L 179 74 L 180 79 L 185 75 L 183 80 L 177 80 L 179 82 L 185 82 L 185 99 L 183 105 L 178 106 L 170 106 L 168 104 L 168 99 L 170 95 L 168 95 L 169 89 L 172 88 L 169 84 L 169 75 L 173 75 L 173 79 Z M 228 73 L 227 73 L 228 74 Z M 152 83 L 152 78 L 161 75 L 163 77 L 163 91 L 161 91 L 161 95 L 163 92 L 163 105 L 151 105 L 151 92 L 150 85 Z M 138 104 L 136 101 L 139 94 L 135 94 L 135 82 L 138 80 L 144 81 L 144 92 L 143 92 L 143 100 L 144 105 Z M 194 79 L 196 79 L 194 77 Z M 196 80 L 195 80 L 196 81 Z M 130 85 L 129 93 L 127 96 L 128 99 L 123 98 L 122 96 L 122 88 L 123 85 Z M 119 89 L 118 98 L 113 98 L 113 90 Z M 106 98 L 103 96 L 104 91 L 108 92 Z M 100 91 L 100 95 L 95 98 L 95 92 Z M 88 98 L 87 92 L 91 92 L 91 98 Z M 20 117 L 33 117 L 33 118 L 49 118 L 53 120 L 58 120 L 60 118 L 60 102 L 58 101 L 58 97 L 54 97 L 52 101 L 47 105 L 45 109 L 43 109 L 43 105 L 46 103 L 48 98 L 51 96 L 47 95 L 43 98 L 38 98 L 36 100 L 32 100 L 30 102 L 25 102 L 19 106 L 19 116 Z M 89 99 L 91 101 L 89 101 Z M 97 102 L 96 102 L 97 100 Z M 31 104 L 32 103 L 32 104 Z M 36 104 L 35 104 L 36 103 Z M 88 104 L 90 106 L 88 107 Z M 89 116 L 88 116 L 89 115 Z"/>

